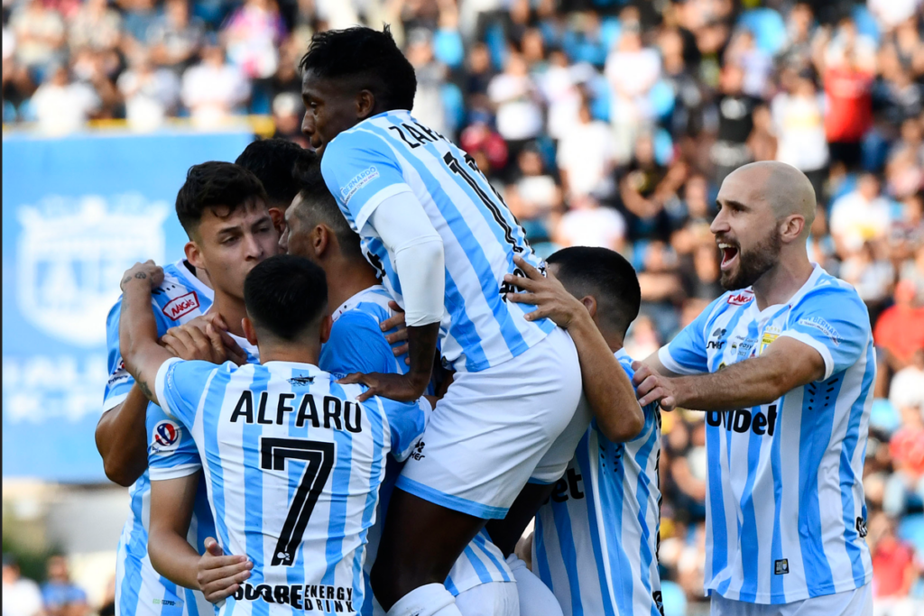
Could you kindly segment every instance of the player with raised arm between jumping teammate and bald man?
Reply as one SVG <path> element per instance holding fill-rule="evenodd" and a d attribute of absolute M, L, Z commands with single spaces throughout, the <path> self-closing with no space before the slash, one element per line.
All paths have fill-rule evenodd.
<path fill-rule="evenodd" d="M 528 292 L 513 299 L 537 304 L 538 313 L 567 327 L 590 402 L 613 371 L 633 373 L 623 340 L 641 304 L 638 276 L 607 248 L 564 248 L 546 263 L 548 278 L 523 266 L 529 280 L 511 282 Z M 565 476 L 536 516 L 532 569 L 553 590 L 565 616 L 658 614 L 661 417 L 656 405 L 598 404 L 593 411 L 596 417 Z M 626 429 L 618 428 L 618 420 Z M 520 602 L 524 616 L 547 611 L 524 600 L 522 592 Z"/>

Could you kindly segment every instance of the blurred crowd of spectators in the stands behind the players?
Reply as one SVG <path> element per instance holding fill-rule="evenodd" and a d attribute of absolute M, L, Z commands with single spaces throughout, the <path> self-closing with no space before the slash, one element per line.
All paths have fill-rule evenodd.
<path fill-rule="evenodd" d="M 648 356 L 722 293 L 709 225 L 755 160 L 808 175 L 809 251 L 869 307 L 879 377 L 866 450 L 877 614 L 924 598 L 924 11 L 921 0 L 4 0 L 3 117 L 66 133 L 273 117 L 306 145 L 314 31 L 391 24 L 414 115 L 456 139 L 543 256 L 636 266 Z M 699 613 L 703 417 L 663 417 L 665 610 Z M 6 572 L 6 568 L 5 568 Z M 6 575 L 6 573 L 5 573 Z M 6 577 L 5 577 L 6 585 Z M 6 587 L 6 586 L 5 586 Z"/>

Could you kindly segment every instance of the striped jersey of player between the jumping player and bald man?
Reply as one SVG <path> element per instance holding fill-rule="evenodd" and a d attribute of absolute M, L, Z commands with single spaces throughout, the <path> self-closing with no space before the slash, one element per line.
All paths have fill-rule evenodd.
<path fill-rule="evenodd" d="M 615 354 L 629 378 L 632 359 Z M 590 422 L 565 477 L 536 515 L 533 570 L 552 589 L 565 616 L 658 616 L 661 524 L 661 416 L 643 409 L 632 441 L 603 436 Z"/>

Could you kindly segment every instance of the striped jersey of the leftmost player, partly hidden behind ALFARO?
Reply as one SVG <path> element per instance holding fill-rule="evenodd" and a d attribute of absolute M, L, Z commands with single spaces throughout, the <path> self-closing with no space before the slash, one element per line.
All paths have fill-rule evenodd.
<path fill-rule="evenodd" d="M 159 336 L 176 325 L 192 320 L 212 306 L 212 289 L 196 278 L 185 261 L 179 260 L 164 267 L 164 282 L 152 292 L 152 308 Z M 103 394 L 103 412 L 122 404 L 135 380 L 122 361 L 119 352 L 118 326 L 122 299 L 109 311 L 106 320 L 109 380 Z M 192 441 L 185 430 L 170 421 L 157 405 L 149 404 L 147 429 L 150 438 L 149 453 L 162 453 L 164 460 L 181 464 Z M 176 458 L 173 456 L 176 455 Z M 212 511 L 201 485 L 188 539 L 191 545 L 203 551 L 205 537 L 214 535 Z M 131 499 L 128 521 L 122 529 L 118 545 L 116 571 L 116 614 L 119 616 L 204 616 L 213 613 L 213 606 L 198 591 L 176 586 L 154 571 L 148 558 L 148 521 L 150 519 L 151 482 L 149 471 L 128 490 Z"/>

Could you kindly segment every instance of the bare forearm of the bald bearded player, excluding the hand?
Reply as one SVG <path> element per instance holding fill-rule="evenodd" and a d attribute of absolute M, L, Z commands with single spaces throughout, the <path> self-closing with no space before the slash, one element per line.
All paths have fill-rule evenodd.
<path fill-rule="evenodd" d="M 683 408 L 733 411 L 769 405 L 797 384 L 783 357 L 754 357 L 713 374 L 677 377 L 675 400 Z"/>

